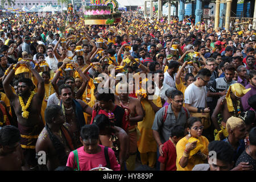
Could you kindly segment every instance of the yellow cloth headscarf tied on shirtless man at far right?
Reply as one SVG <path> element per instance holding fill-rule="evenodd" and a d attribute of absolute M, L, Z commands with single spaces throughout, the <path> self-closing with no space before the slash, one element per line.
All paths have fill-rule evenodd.
<path fill-rule="evenodd" d="M 236 97 L 243 97 L 249 90 L 249 89 L 245 89 L 245 87 L 241 84 L 235 83 L 229 86 L 228 89 L 228 93 L 226 94 L 226 104 L 228 105 L 228 110 L 229 112 L 233 112 L 234 111 L 234 107 L 233 107 L 233 103 L 232 103 L 232 99 L 230 97 L 230 92 L 232 91 L 232 93 L 236 96 Z"/>

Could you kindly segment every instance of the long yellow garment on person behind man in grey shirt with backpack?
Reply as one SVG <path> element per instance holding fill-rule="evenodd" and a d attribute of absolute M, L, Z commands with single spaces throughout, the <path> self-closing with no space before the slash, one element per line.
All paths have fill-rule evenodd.
<path fill-rule="evenodd" d="M 159 96 L 153 100 L 153 103 L 158 107 L 162 107 L 161 98 Z M 141 153 L 156 152 L 157 144 L 151 129 L 154 123 L 155 111 L 148 101 L 142 100 L 141 104 L 146 114 L 143 120 L 138 122 L 138 129 L 141 133 L 141 137 L 139 137 L 138 140 L 138 150 Z"/>

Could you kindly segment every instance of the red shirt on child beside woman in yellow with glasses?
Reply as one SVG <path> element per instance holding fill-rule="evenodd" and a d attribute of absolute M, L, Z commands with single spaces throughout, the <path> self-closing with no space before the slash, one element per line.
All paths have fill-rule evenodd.
<path fill-rule="evenodd" d="M 174 143 L 171 140 L 168 140 L 164 143 L 163 147 L 163 156 L 159 156 L 158 161 L 166 165 L 164 171 L 176 171 L 176 148 Z"/>

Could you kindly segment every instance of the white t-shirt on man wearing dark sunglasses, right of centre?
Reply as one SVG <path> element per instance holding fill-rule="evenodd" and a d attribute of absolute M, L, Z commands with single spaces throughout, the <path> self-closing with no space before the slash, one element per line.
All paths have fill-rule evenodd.
<path fill-rule="evenodd" d="M 193 107 L 206 106 L 207 88 L 206 86 L 198 87 L 194 83 L 188 85 L 184 93 L 185 104 L 191 104 Z"/>

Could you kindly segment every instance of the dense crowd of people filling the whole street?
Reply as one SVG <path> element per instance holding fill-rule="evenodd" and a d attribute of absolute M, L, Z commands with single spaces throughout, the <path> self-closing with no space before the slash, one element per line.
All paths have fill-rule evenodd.
<path fill-rule="evenodd" d="M 0 17 L 0 170 L 255 171 L 251 26 L 65 17 Z"/>

